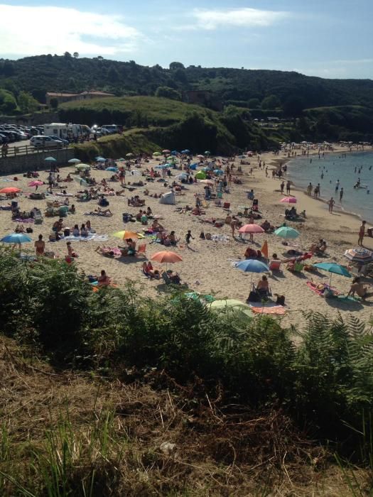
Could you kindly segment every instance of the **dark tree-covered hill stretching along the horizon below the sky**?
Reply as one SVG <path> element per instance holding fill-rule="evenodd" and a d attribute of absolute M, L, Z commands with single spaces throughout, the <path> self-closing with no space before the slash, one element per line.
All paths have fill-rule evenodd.
<path fill-rule="evenodd" d="M 224 67 L 184 67 L 172 62 L 146 67 L 129 62 L 65 55 L 39 55 L 20 60 L 0 59 L 0 88 L 13 94 L 31 92 L 39 102 L 45 92 L 101 89 L 122 95 L 180 97 L 187 89 L 204 89 L 225 104 L 240 107 L 298 109 L 322 106 L 373 107 L 372 80 L 325 80 L 297 72 L 240 70 Z M 161 88 L 161 89 L 160 89 Z M 168 92 L 168 94 L 167 94 Z"/>

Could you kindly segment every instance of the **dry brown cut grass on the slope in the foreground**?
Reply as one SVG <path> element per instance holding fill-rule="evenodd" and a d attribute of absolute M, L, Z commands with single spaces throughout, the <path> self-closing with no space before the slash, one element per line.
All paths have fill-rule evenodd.
<path fill-rule="evenodd" d="M 164 373 L 146 384 L 58 373 L 4 338 L 0 375 L 0 471 L 31 495 L 46 495 L 50 440 L 58 457 L 68 445 L 74 496 L 86 495 L 82 486 L 92 496 L 353 495 L 325 449 L 281 411 L 224 405 L 219 388 L 212 399 Z M 1 491 L 15 495 L 14 481 L 2 478 Z"/>

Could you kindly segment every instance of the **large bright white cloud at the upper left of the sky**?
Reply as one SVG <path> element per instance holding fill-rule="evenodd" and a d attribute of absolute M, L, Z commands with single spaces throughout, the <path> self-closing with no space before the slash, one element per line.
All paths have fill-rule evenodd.
<path fill-rule="evenodd" d="M 142 35 L 119 16 L 55 6 L 0 4 L 1 53 L 12 56 L 132 52 Z"/>

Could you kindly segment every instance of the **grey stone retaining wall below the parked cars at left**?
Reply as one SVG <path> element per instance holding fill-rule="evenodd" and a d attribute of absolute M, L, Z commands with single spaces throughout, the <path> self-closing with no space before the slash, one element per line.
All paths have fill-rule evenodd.
<path fill-rule="evenodd" d="M 53 164 L 60 167 L 68 165 L 67 161 L 74 157 L 74 150 L 72 148 L 64 148 L 58 151 L 37 152 L 28 155 L 16 155 L 16 157 L 0 158 L 0 175 L 49 169 L 50 163 L 45 162 L 45 158 L 50 156 L 57 160 Z"/>

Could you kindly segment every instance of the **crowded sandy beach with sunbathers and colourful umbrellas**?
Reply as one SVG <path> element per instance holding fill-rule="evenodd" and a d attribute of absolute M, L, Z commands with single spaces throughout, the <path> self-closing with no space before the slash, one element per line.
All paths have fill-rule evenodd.
<path fill-rule="evenodd" d="M 94 291 L 131 279 L 144 295 L 183 286 L 288 322 L 315 309 L 364 319 L 373 302 L 369 222 L 333 212 L 287 174 L 297 154 L 337 151 L 354 150 L 159 151 L 60 168 L 50 157 L 45 170 L 0 177 L 0 238 L 26 261 L 75 264 Z"/>

